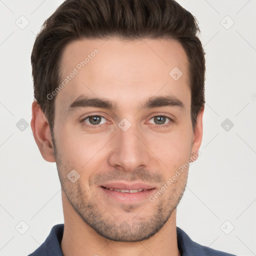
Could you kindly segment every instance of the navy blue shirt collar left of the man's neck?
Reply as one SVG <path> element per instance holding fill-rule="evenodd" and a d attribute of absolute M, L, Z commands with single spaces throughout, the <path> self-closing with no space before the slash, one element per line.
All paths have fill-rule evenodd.
<path fill-rule="evenodd" d="M 64 224 L 54 225 L 46 240 L 31 254 L 28 256 L 46 256 L 46 255 L 55 255 L 63 256 L 60 242 L 62 240 L 64 230 Z"/>

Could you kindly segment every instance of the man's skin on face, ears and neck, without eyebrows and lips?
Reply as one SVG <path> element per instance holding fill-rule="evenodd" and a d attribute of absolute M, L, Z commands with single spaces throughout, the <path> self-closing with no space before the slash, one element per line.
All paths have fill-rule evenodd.
<path fill-rule="evenodd" d="M 64 48 L 62 77 L 94 48 L 99 50 L 95 57 L 55 96 L 54 138 L 44 113 L 36 101 L 32 103 L 35 141 L 46 161 L 56 161 L 60 178 L 63 254 L 180 255 L 176 206 L 185 189 L 188 168 L 153 202 L 146 198 L 120 203 L 108 198 L 99 185 L 138 180 L 158 190 L 179 166 L 194 159 L 191 157 L 202 139 L 203 109 L 193 130 L 185 51 L 171 39 L 80 39 Z M 178 80 L 169 75 L 174 67 L 183 73 Z M 81 94 L 112 100 L 116 109 L 80 107 L 67 111 Z M 184 107 L 137 108 L 152 96 L 166 95 L 175 96 Z M 84 120 L 91 114 L 104 117 L 101 127 Z M 164 119 L 167 126 L 163 127 L 154 118 L 157 114 L 173 121 Z M 123 118 L 131 123 L 126 131 L 118 126 Z M 72 169 L 80 175 L 75 182 L 67 178 Z"/>

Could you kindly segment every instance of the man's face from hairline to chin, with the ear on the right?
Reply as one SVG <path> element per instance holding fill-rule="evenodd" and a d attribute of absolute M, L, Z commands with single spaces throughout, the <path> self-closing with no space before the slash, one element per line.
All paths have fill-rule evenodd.
<path fill-rule="evenodd" d="M 53 146 L 66 201 L 103 237 L 152 236 L 175 210 L 188 168 L 173 175 L 201 141 L 183 48 L 170 39 L 82 39 L 61 62 Z"/>

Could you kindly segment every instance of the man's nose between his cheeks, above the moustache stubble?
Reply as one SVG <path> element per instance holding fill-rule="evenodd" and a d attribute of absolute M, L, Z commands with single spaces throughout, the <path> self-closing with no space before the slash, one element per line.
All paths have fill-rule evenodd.
<path fill-rule="evenodd" d="M 109 155 L 109 164 L 126 172 L 148 166 L 152 155 L 150 155 L 150 146 L 147 145 L 148 142 L 142 131 L 132 125 L 126 131 L 117 127 L 116 132 L 112 141 L 113 147 Z"/>

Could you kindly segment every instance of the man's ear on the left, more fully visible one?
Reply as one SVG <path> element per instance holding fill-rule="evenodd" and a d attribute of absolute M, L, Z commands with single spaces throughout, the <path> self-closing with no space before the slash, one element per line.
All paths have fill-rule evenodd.
<path fill-rule="evenodd" d="M 32 103 L 31 129 L 34 140 L 44 160 L 54 162 L 53 144 L 50 134 L 50 127 L 43 111 L 36 100 Z"/>

